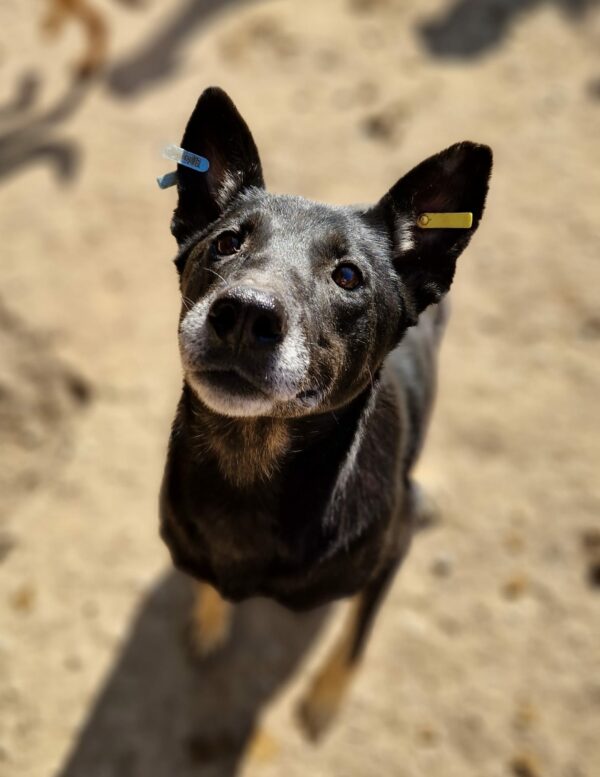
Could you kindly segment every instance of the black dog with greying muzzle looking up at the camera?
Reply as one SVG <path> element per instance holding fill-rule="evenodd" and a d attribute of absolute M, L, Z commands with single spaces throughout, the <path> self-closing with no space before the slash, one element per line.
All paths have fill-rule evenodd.
<path fill-rule="evenodd" d="M 198 581 L 195 641 L 227 635 L 229 603 L 304 610 L 352 597 L 340 641 L 299 706 L 334 719 L 419 519 L 444 295 L 477 228 L 491 150 L 457 143 L 368 207 L 265 190 L 258 150 L 220 89 L 182 146 L 171 231 L 183 391 L 160 496 L 161 535 Z M 470 211 L 471 229 L 420 214 Z"/>

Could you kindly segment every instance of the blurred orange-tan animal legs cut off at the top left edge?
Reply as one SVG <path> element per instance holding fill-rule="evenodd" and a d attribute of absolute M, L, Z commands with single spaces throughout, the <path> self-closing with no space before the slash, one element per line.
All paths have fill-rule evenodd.
<path fill-rule="evenodd" d="M 122 5 L 139 7 L 142 0 L 119 0 Z M 57 35 L 65 21 L 71 17 L 83 27 L 86 48 L 75 66 L 78 78 L 95 75 L 106 61 L 108 28 L 104 17 L 87 0 L 49 0 L 48 11 L 42 20 L 42 30 L 48 36 Z"/>

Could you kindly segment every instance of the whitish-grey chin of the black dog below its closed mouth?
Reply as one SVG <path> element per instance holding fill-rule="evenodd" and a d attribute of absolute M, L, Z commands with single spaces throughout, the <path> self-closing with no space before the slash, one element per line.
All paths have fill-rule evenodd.
<path fill-rule="evenodd" d="M 233 370 L 187 372 L 186 380 L 198 399 L 210 410 L 232 418 L 275 416 L 289 397 L 279 397 Z"/>

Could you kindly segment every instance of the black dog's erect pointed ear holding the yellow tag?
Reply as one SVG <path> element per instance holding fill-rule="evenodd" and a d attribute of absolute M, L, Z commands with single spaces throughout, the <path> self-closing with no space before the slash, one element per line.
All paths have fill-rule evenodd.
<path fill-rule="evenodd" d="M 450 288 L 456 259 L 479 225 L 491 170 L 488 146 L 456 143 L 417 165 L 373 209 L 389 230 L 394 263 L 415 317 Z M 472 213 L 472 226 L 423 229 L 418 225 L 422 213 L 448 212 Z"/>

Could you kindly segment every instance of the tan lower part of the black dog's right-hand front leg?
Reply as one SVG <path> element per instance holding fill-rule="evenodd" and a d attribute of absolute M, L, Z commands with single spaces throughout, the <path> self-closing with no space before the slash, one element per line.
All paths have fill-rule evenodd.
<path fill-rule="evenodd" d="M 352 600 L 341 637 L 298 707 L 300 725 L 313 741 L 323 735 L 336 717 L 357 668 L 357 661 L 352 660 L 352 649 L 359 624 L 361 598 L 359 594 Z"/>

